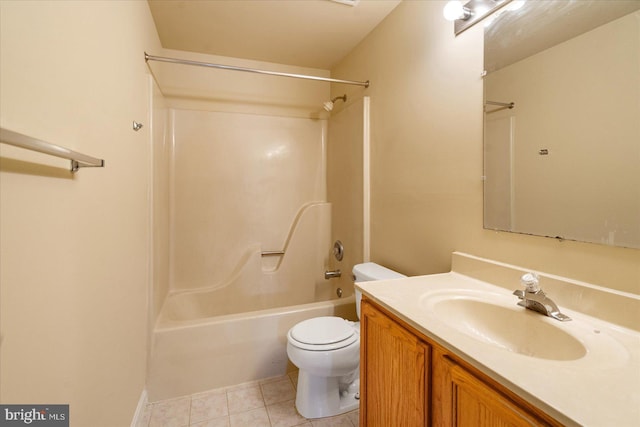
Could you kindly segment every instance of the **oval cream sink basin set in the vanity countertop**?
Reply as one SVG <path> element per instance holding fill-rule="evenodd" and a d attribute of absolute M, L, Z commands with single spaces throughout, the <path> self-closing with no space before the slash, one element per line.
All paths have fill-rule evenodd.
<path fill-rule="evenodd" d="M 445 293 L 427 296 L 422 305 L 457 331 L 514 353 L 561 361 L 587 354 L 582 342 L 562 329 L 562 322 L 523 309 L 515 300 L 506 301 L 504 295 Z"/>

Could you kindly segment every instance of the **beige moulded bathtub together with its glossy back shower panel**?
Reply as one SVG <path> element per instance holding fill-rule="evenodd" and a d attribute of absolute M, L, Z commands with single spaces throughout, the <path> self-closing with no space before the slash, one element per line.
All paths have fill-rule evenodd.
<path fill-rule="evenodd" d="M 167 117 L 170 285 L 152 333 L 151 401 L 284 374 L 291 326 L 355 317 L 351 289 L 336 299 L 324 279 L 327 120 Z"/>

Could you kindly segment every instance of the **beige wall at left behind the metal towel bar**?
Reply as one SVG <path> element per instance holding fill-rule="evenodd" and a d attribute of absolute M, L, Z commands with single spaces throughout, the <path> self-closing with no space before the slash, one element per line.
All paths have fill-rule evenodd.
<path fill-rule="evenodd" d="M 141 1 L 3 0 L 0 18 L 2 126 L 106 161 L 72 176 L 0 146 L 0 400 L 128 425 L 145 383 L 153 20 Z"/>

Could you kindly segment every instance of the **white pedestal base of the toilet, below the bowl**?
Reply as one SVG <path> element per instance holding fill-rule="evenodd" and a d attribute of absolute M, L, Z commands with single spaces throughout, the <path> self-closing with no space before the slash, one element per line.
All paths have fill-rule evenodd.
<path fill-rule="evenodd" d="M 298 372 L 296 409 L 305 418 L 323 418 L 344 414 L 360 406 L 360 379 L 345 384 L 344 377 L 317 377 Z M 352 377 L 352 378 L 353 378 Z"/>

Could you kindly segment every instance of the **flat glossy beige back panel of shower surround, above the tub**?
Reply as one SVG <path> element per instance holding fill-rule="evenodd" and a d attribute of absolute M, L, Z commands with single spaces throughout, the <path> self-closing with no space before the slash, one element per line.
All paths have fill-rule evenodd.
<path fill-rule="evenodd" d="M 256 246 L 285 250 L 305 208 L 326 202 L 326 121 L 193 110 L 171 116 L 171 290 L 224 286 Z M 307 243 L 328 253 L 325 231 L 324 241 Z M 262 257 L 262 270 L 282 258 Z M 322 278 L 323 266 L 307 270 Z"/>

